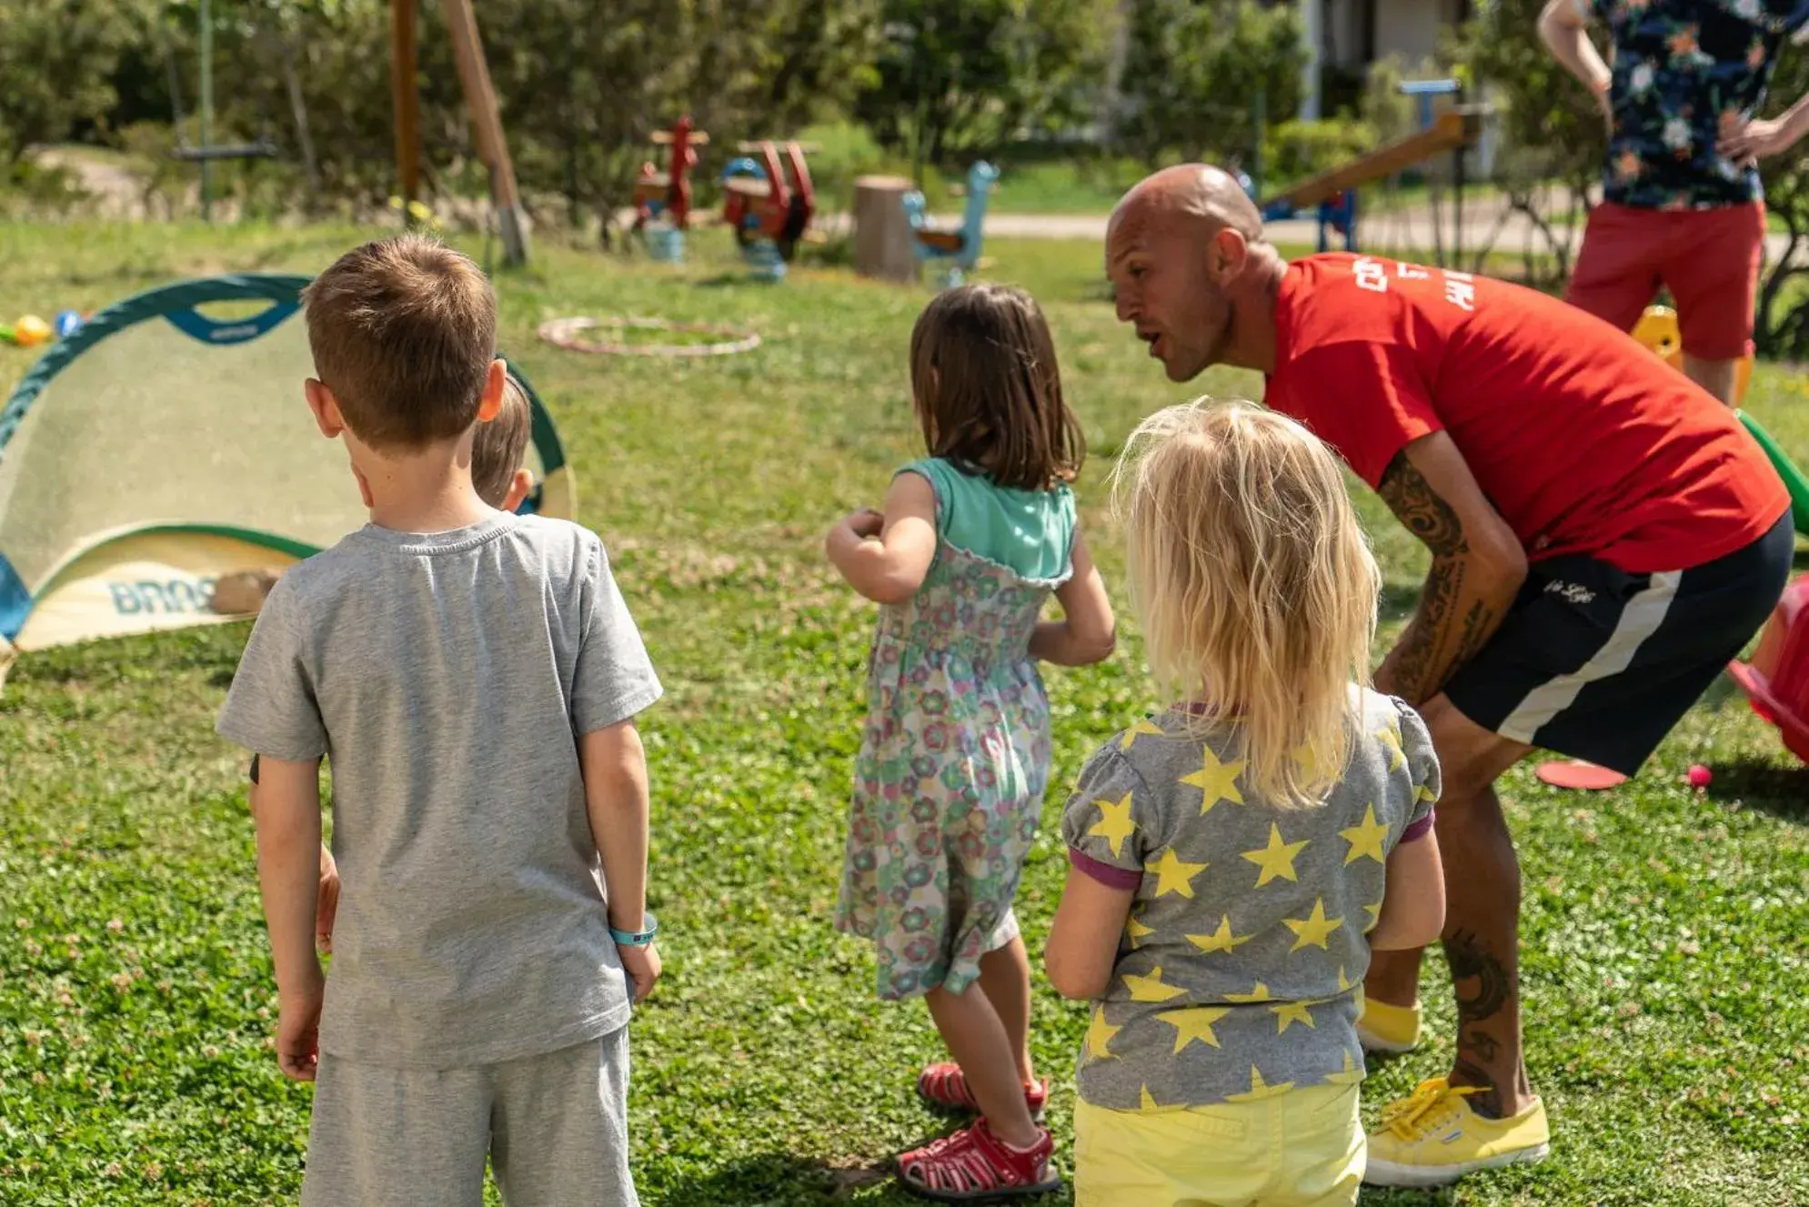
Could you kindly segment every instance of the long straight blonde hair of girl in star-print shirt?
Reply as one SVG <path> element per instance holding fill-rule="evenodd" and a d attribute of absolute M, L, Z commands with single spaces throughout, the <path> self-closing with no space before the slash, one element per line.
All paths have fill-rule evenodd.
<path fill-rule="evenodd" d="M 1380 572 L 1331 451 L 1248 402 L 1143 420 L 1113 470 L 1151 670 L 1198 726 L 1241 726 L 1243 780 L 1319 803 L 1350 760 Z"/>

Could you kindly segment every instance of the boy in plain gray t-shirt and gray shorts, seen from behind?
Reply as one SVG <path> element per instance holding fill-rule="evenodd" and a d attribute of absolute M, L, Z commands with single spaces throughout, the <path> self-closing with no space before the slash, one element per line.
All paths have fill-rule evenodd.
<path fill-rule="evenodd" d="M 371 523 L 275 584 L 221 709 L 260 756 L 282 1071 L 317 1080 L 304 1203 L 635 1203 L 626 1024 L 658 977 L 633 717 L 660 695 L 597 537 L 485 505 L 496 299 L 405 235 L 306 293 Z M 318 764 L 342 878 L 313 950 Z"/>

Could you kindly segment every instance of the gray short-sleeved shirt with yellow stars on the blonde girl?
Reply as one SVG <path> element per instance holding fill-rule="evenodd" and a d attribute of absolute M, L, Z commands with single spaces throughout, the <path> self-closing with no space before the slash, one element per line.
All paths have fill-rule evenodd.
<path fill-rule="evenodd" d="M 1362 731 L 1324 803 L 1248 791 L 1227 729 L 1141 720 L 1082 769 L 1069 860 L 1136 889 L 1078 1059 L 1080 1097 L 1149 1111 L 1357 1084 L 1362 979 L 1389 852 L 1440 793 L 1425 722 L 1362 691 Z"/>

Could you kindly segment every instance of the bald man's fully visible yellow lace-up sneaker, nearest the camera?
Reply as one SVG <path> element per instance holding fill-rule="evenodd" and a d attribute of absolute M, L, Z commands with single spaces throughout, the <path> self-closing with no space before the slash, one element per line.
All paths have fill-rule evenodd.
<path fill-rule="evenodd" d="M 1382 1107 L 1382 1126 L 1369 1133 L 1369 1185 L 1449 1185 L 1467 1173 L 1545 1160 L 1552 1131 L 1545 1104 L 1532 1100 L 1512 1118 L 1487 1118 L 1471 1109 L 1444 1077 L 1420 1082 L 1411 1097 Z"/>

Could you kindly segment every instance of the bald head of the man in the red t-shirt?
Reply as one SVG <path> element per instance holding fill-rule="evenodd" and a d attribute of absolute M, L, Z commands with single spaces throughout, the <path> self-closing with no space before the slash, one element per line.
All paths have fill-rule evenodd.
<path fill-rule="evenodd" d="M 1281 257 L 1263 242 L 1263 215 L 1228 172 L 1203 163 L 1163 168 L 1127 192 L 1105 228 L 1105 275 L 1118 320 L 1185 382 L 1207 366 L 1259 367 L 1272 358 L 1272 297 Z"/>

